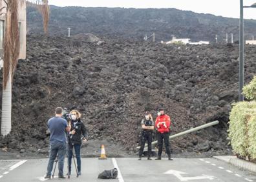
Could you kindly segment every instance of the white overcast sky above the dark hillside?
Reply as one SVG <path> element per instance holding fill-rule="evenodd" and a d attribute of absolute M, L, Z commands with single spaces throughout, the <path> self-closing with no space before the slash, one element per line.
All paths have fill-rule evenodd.
<path fill-rule="evenodd" d="M 124 8 L 177 8 L 197 13 L 239 18 L 239 0 L 48 0 L 56 6 L 124 7 Z M 252 5 L 256 0 L 244 0 Z M 244 18 L 256 19 L 256 8 L 244 8 Z"/>

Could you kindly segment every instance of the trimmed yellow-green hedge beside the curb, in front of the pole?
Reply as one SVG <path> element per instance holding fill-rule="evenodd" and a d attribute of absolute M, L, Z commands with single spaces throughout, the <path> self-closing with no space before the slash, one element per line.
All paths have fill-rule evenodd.
<path fill-rule="evenodd" d="M 256 102 L 240 102 L 233 104 L 233 108 L 229 116 L 229 130 L 228 139 L 230 140 L 233 152 L 239 154 L 240 156 L 247 157 L 248 148 L 250 145 L 249 141 L 249 131 L 248 121 L 255 114 Z M 251 128 L 250 128 L 251 129 Z M 253 132 L 250 132 L 253 135 Z M 255 137 L 256 139 L 256 137 Z M 251 151 L 256 151 L 251 148 Z"/>

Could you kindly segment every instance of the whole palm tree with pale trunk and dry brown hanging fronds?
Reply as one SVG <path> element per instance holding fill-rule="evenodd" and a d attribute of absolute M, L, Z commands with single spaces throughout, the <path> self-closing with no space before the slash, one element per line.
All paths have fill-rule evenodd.
<path fill-rule="evenodd" d="M 30 0 L 43 15 L 43 26 L 47 32 L 49 8 L 48 0 Z M 3 46 L 3 100 L 1 134 L 6 136 L 12 128 L 12 80 L 19 58 L 19 23 L 18 8 L 26 0 L 0 0 L 0 15 L 5 14 L 5 38 Z"/>

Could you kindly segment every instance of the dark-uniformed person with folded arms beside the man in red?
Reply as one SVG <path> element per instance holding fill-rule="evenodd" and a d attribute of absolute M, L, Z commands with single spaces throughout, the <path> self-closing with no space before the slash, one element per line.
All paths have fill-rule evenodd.
<path fill-rule="evenodd" d="M 154 130 L 154 121 L 149 112 L 145 112 L 145 119 L 142 119 L 142 144 L 139 151 L 139 160 L 142 159 L 142 154 L 144 152 L 145 142 L 147 141 L 147 159 L 151 160 L 151 150 L 152 150 L 152 136 Z"/>

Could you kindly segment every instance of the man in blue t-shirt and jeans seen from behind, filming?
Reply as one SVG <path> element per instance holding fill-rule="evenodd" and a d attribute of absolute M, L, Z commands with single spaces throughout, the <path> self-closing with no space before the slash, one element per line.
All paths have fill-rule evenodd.
<path fill-rule="evenodd" d="M 55 110 L 55 117 L 48 120 L 48 128 L 50 130 L 50 156 L 47 167 L 47 175 L 45 179 L 50 179 L 54 160 L 58 154 L 59 161 L 59 179 L 65 179 L 63 176 L 64 159 L 67 151 L 67 132 L 70 132 L 70 127 L 66 119 L 62 118 L 62 108 L 58 107 Z"/>

